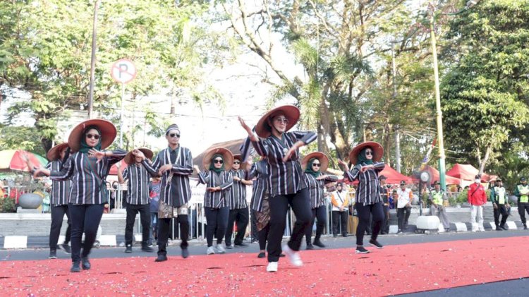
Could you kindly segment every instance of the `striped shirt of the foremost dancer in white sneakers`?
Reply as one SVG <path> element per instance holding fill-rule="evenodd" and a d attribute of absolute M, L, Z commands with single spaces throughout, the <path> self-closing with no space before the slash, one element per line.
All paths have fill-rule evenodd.
<path fill-rule="evenodd" d="M 299 163 L 299 150 L 296 150 L 287 162 L 283 162 L 283 157 L 298 140 L 308 145 L 316 137 L 314 132 L 296 131 L 283 133 L 281 139 L 272 135 L 266 139 L 252 142 L 257 154 L 267 157 L 268 185 L 271 197 L 295 194 L 299 190 L 307 188 Z"/>

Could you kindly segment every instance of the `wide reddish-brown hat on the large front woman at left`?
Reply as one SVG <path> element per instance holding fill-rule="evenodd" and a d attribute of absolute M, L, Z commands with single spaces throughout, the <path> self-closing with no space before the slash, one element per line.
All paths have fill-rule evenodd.
<path fill-rule="evenodd" d="M 109 147 L 116 138 L 116 126 L 110 121 L 104 119 L 91 119 L 79 123 L 73 128 L 68 137 L 68 146 L 72 152 L 77 152 L 81 146 L 81 139 L 83 138 L 85 129 L 89 126 L 97 126 L 101 132 L 101 149 L 104 150 Z"/>

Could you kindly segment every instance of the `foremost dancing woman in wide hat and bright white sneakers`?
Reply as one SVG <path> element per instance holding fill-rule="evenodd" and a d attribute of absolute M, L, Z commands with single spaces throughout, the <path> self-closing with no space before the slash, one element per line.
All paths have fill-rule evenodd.
<path fill-rule="evenodd" d="M 286 224 L 288 206 L 296 214 L 290 241 L 283 246 L 291 263 L 299 267 L 303 265 L 298 250 L 305 229 L 310 224 L 309 193 L 303 171 L 299 162 L 299 147 L 308 145 L 316 139 L 313 132 L 288 132 L 298 121 L 300 111 L 293 105 L 284 105 L 268 111 L 261 117 L 255 133 L 239 117 L 241 126 L 248 133 L 256 152 L 267 157 L 268 185 L 270 207 L 270 231 L 268 236 L 267 272 L 276 272 L 281 254 L 281 239 Z"/>

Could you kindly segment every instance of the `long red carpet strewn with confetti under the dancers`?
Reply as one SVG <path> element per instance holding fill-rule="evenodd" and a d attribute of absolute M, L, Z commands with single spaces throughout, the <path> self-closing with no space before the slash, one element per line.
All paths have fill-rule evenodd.
<path fill-rule="evenodd" d="M 205 248 L 204 248 L 205 250 Z M 0 262 L 3 296 L 387 296 L 529 277 L 529 237 L 302 251 L 279 272 L 255 254 L 94 259 L 72 274 L 68 260 Z M 96 251 L 97 253 L 97 251 Z M 116 252 L 117 253 L 117 252 Z M 179 252 L 178 252 L 179 253 Z M 138 255 L 141 255 L 138 253 Z"/>

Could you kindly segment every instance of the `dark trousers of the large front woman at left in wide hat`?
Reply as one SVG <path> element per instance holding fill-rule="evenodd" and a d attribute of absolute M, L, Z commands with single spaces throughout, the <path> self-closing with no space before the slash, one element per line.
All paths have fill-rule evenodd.
<path fill-rule="evenodd" d="M 68 205 L 72 222 L 72 262 L 80 262 L 81 257 L 90 255 L 95 243 L 97 227 L 101 222 L 104 207 L 102 204 Z M 85 233 L 83 253 L 81 253 L 81 238 Z"/>

